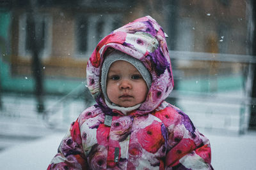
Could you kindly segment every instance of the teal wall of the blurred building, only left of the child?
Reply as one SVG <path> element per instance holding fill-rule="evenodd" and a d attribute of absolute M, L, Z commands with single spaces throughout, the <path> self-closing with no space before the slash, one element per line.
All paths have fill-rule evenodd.
<path fill-rule="evenodd" d="M 0 11 L 0 78 L 1 90 L 10 92 L 33 92 L 35 81 L 31 76 L 12 76 L 10 67 L 10 55 L 6 48 L 10 42 L 11 13 Z M 44 90 L 52 94 L 67 94 L 74 88 L 81 85 L 84 80 L 63 80 L 63 78 L 45 78 Z"/>

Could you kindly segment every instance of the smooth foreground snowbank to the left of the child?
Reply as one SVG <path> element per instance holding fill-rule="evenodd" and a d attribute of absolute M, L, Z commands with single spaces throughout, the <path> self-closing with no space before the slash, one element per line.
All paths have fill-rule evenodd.
<path fill-rule="evenodd" d="M 63 133 L 55 133 L 45 138 L 22 143 L 0 152 L 1 170 L 47 169 L 57 153 Z"/>

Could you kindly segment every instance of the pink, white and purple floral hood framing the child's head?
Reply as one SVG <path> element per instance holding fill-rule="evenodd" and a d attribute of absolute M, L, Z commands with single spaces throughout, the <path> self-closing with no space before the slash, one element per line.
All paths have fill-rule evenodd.
<path fill-rule="evenodd" d="M 166 34 L 156 20 L 147 16 L 116 29 L 99 42 L 88 60 L 86 77 L 88 88 L 102 110 L 111 114 L 100 88 L 101 66 L 108 48 L 141 60 L 152 75 L 147 98 L 136 110 L 136 115 L 155 110 L 168 97 L 173 89 L 173 74 L 165 37 Z"/>

